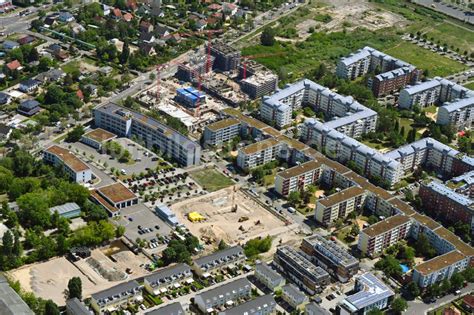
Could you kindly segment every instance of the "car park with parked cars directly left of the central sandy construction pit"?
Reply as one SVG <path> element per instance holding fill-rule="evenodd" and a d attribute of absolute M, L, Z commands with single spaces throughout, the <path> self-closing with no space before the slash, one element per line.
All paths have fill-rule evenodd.
<path fill-rule="evenodd" d="M 167 236 L 171 228 L 163 222 L 153 209 L 147 208 L 143 204 L 121 209 L 122 216 L 117 223 L 125 226 L 125 236 L 135 241 L 137 238 L 149 242 L 157 238 L 157 234 Z M 140 228 L 139 228 L 140 227 Z"/>

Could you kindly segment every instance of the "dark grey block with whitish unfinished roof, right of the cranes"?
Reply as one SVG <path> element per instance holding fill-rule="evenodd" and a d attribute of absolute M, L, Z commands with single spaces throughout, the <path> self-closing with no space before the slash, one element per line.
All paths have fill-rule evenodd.
<path fill-rule="evenodd" d="M 278 76 L 271 71 L 257 72 L 240 81 L 242 92 L 255 99 L 273 93 L 278 87 Z"/>

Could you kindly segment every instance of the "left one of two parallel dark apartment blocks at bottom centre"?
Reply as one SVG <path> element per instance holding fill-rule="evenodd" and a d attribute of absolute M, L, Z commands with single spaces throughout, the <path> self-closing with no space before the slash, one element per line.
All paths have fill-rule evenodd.
<path fill-rule="evenodd" d="M 315 266 L 303 254 L 289 246 L 277 248 L 273 263 L 278 270 L 311 295 L 322 291 L 330 280 L 324 269 Z"/>

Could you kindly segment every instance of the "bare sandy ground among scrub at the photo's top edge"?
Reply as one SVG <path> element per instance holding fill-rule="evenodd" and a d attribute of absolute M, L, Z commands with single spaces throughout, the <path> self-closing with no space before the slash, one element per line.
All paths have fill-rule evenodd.
<path fill-rule="evenodd" d="M 369 30 L 400 26 L 407 21 L 396 14 L 387 11 L 381 11 L 373 8 L 369 3 L 362 1 L 348 1 L 334 3 L 332 6 L 323 8 L 312 8 L 314 15 L 327 14 L 331 17 L 328 23 L 315 21 L 314 19 L 305 20 L 296 25 L 296 30 L 301 39 L 306 39 L 310 34 L 309 29 L 315 28 L 317 31 L 327 30 L 330 32 L 341 31 L 342 29 L 355 29 L 365 27 Z"/>

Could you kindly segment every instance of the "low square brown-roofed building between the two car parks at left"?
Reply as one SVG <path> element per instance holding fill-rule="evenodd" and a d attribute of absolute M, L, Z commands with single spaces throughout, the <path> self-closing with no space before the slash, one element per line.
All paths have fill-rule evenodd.
<path fill-rule="evenodd" d="M 120 215 L 120 209 L 138 203 L 138 197 L 122 183 L 97 188 L 91 191 L 91 198 L 104 207 L 111 217 Z"/>

